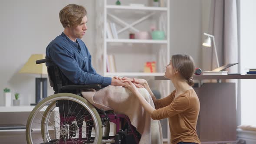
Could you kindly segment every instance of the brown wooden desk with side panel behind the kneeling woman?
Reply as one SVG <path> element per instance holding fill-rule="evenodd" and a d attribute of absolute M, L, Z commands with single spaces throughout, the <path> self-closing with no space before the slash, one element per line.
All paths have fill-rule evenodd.
<path fill-rule="evenodd" d="M 194 75 L 193 79 L 256 79 L 256 75 Z M 155 76 L 155 80 L 167 80 Z M 236 141 L 236 84 L 204 83 L 194 88 L 200 100 L 197 134 L 202 144 Z"/>

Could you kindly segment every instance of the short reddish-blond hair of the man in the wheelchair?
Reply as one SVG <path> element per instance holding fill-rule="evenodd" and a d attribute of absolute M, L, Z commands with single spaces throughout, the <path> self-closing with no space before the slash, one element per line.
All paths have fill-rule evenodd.
<path fill-rule="evenodd" d="M 85 7 L 77 4 L 69 4 L 59 12 L 59 20 L 64 28 L 76 27 L 87 14 Z"/>

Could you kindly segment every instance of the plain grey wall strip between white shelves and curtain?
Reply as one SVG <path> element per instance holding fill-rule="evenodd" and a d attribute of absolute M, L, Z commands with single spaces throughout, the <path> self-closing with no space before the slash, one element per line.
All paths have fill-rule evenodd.
<path fill-rule="evenodd" d="M 201 65 L 202 0 L 171 0 L 171 55 L 186 53 Z"/>

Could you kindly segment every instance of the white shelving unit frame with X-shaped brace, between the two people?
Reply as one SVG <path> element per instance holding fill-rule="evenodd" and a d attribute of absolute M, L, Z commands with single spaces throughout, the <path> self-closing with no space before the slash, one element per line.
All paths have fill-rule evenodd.
<path fill-rule="evenodd" d="M 117 10 L 117 12 L 115 12 Z M 123 20 L 122 18 L 120 18 L 120 16 L 116 16 L 117 13 L 129 13 L 129 14 L 133 14 L 133 13 L 138 13 L 143 11 L 145 14 L 143 14 L 141 16 L 140 19 L 134 20 L 131 24 L 129 24 L 128 22 L 125 22 L 125 20 Z M 167 5 L 166 7 L 148 7 L 146 4 L 145 6 L 142 7 L 132 7 L 129 5 L 113 5 L 113 3 L 108 4 L 107 0 L 104 0 L 104 36 L 103 36 L 103 40 L 104 40 L 104 54 L 103 54 L 103 70 L 104 73 L 103 75 L 105 76 L 112 76 L 112 75 L 119 75 L 119 76 L 158 76 L 158 75 L 163 75 L 163 72 L 156 72 L 156 73 L 146 73 L 146 72 L 115 72 L 115 73 L 110 73 L 107 72 L 107 66 L 106 66 L 106 59 L 108 56 L 108 49 L 111 48 L 111 44 L 112 43 L 121 43 L 121 44 L 141 44 L 141 45 L 148 45 L 149 47 L 152 47 L 154 45 L 154 47 L 156 49 L 160 48 L 161 46 L 164 45 L 164 47 L 166 48 L 166 64 L 170 61 L 170 15 L 169 15 L 169 11 L 170 11 L 170 2 L 169 0 L 167 0 Z M 167 13 L 167 33 L 166 33 L 166 39 L 164 40 L 154 40 L 154 39 L 109 39 L 106 36 L 107 33 L 107 22 L 109 20 L 115 21 L 116 25 L 122 25 L 123 28 L 121 29 L 117 29 L 117 33 L 118 35 L 124 31 L 131 31 L 133 33 L 138 32 L 139 29 L 135 28 L 135 26 L 139 23 L 141 23 L 142 21 L 146 21 L 149 18 L 151 18 L 152 16 L 155 15 L 159 15 L 161 13 Z M 148 26 L 150 27 L 150 26 Z M 157 46 L 157 45 L 161 45 L 161 46 Z M 136 47 L 140 47 L 140 46 L 136 46 Z M 119 49 L 122 49 L 123 47 L 120 46 Z M 154 49 L 154 48 L 153 48 Z M 115 59 L 115 61 L 118 61 L 117 59 Z"/>

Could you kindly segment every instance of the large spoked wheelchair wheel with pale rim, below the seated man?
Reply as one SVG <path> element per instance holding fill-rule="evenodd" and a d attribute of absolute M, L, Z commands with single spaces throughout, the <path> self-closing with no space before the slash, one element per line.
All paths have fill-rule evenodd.
<path fill-rule="evenodd" d="M 68 108 L 67 103 L 71 105 Z M 28 144 L 101 144 L 102 121 L 97 110 L 85 98 L 59 93 L 40 101 L 30 113 L 26 140 Z"/>

